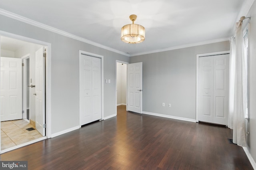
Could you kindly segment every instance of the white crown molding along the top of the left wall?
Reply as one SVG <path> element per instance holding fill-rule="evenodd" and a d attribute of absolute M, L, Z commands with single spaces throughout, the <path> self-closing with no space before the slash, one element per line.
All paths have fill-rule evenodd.
<path fill-rule="evenodd" d="M 69 38 L 72 38 L 72 39 L 75 39 L 75 40 L 78 40 L 78 41 L 81 41 L 81 42 L 85 42 L 85 43 L 88 43 L 88 44 L 91 44 L 91 45 L 94 45 L 96 47 L 100 47 L 100 48 L 103 48 L 103 49 L 107 49 L 109 51 L 113 51 L 115 53 L 119 53 L 119 54 L 122 54 L 122 55 L 126 55 L 126 56 L 130 56 L 129 54 L 127 53 L 124 53 L 122 51 L 118 51 L 116 49 L 113 49 L 113 48 L 110 48 L 110 47 L 107 47 L 105 45 L 102 45 L 102 44 L 99 44 L 99 43 L 96 43 L 96 42 L 92 42 L 90 40 L 87 40 L 85 38 L 81 38 L 81 37 L 78 37 L 78 36 L 75 36 L 73 34 L 70 34 L 68 32 L 64 32 L 62 30 L 58 30 L 56 28 L 53 28 L 51 26 L 48 26 L 48 25 L 45 25 L 45 24 L 42 24 L 40 22 L 36 22 L 34 20 L 30 20 L 26 17 L 23 17 L 23 16 L 20 16 L 18 14 L 14 14 L 12 12 L 9 12 L 9 11 L 6 11 L 6 10 L 3 10 L 0 8 L 0 14 L 3 15 L 3 16 L 7 16 L 9 18 L 13 18 L 15 20 L 19 20 L 21 22 L 25 22 L 27 24 L 30 24 L 32 26 L 36 26 L 36 27 L 39 27 L 39 28 L 42 28 L 44 30 L 48 30 L 48 31 L 51 31 L 51 32 L 54 32 L 54 33 L 57 33 L 57 34 L 60 34 L 62 36 L 66 36 L 66 37 L 69 37 Z"/>

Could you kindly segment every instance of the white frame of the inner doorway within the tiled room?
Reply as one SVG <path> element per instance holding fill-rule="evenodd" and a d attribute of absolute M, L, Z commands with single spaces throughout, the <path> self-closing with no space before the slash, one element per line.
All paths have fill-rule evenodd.
<path fill-rule="evenodd" d="M 27 62 L 26 62 L 26 59 L 28 59 L 29 58 L 29 56 L 30 56 L 30 54 L 27 54 L 27 55 L 24 55 L 23 57 L 21 57 L 21 59 L 22 59 L 22 63 L 24 63 L 24 66 L 22 67 L 22 75 L 23 75 L 23 77 L 22 77 L 22 108 L 23 108 L 23 110 L 22 111 L 24 111 L 24 113 L 22 112 L 22 119 L 24 119 L 25 121 L 26 121 L 26 119 L 27 119 L 27 93 L 26 93 L 26 91 L 27 91 L 27 89 L 26 89 L 26 81 L 27 81 L 27 79 L 29 79 L 29 77 L 27 77 L 27 71 L 26 71 L 26 69 L 27 69 Z"/>

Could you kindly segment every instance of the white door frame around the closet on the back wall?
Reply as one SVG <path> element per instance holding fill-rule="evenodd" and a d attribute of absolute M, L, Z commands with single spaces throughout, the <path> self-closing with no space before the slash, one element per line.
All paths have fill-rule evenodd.
<path fill-rule="evenodd" d="M 199 57 L 222 55 L 227 53 L 230 53 L 230 51 L 219 51 L 214 53 L 204 53 L 196 55 L 196 122 L 199 122 Z"/>

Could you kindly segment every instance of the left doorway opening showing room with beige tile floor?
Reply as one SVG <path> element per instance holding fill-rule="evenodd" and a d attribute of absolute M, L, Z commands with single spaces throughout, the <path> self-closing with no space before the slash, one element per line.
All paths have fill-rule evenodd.
<path fill-rule="evenodd" d="M 44 51 L 48 46 L 25 42 L 22 40 L 23 37 L 18 40 L 15 37 L 19 36 L 12 36 L 14 38 L 0 37 L 1 153 L 46 139 L 46 128 L 44 128 L 45 125 L 42 125 L 42 122 L 46 123 L 45 107 L 36 104 L 38 100 L 43 101 L 43 105 L 46 104 L 45 88 L 43 97 L 38 98 L 36 93 L 38 87 L 45 87 L 46 54 Z M 39 59 L 39 56 L 43 59 Z M 40 63 L 42 63 L 42 70 L 38 69 Z M 16 66 L 19 67 L 14 69 Z M 42 77 L 42 80 L 39 80 L 38 77 Z M 9 105 L 6 105 L 6 101 L 10 102 Z M 38 108 L 43 109 L 40 111 Z M 38 110 L 40 114 L 38 114 Z M 38 117 L 38 115 L 43 117 Z M 37 122 L 41 123 L 40 126 L 42 125 L 43 130 L 38 130 Z"/>

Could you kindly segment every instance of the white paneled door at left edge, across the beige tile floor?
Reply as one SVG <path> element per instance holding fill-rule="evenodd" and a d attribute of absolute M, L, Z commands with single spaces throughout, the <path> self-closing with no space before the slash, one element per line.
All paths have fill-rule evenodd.
<path fill-rule="evenodd" d="M 1 121 L 22 119 L 22 59 L 0 59 Z"/>

